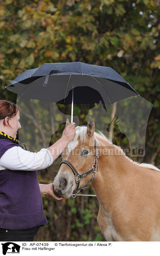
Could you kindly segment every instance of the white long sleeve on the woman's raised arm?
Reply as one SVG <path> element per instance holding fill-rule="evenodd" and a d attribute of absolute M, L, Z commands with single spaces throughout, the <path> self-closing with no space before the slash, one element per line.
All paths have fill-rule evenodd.
<path fill-rule="evenodd" d="M 45 169 L 52 163 L 53 157 L 48 149 L 33 153 L 15 146 L 8 149 L 0 158 L 0 170 L 37 171 Z"/>

